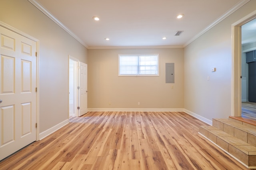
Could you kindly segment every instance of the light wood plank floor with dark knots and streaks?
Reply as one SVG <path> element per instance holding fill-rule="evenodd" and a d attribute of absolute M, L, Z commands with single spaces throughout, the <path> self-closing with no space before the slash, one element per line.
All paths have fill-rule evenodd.
<path fill-rule="evenodd" d="M 184 112 L 88 112 L 0 162 L 1 170 L 246 170 Z"/>

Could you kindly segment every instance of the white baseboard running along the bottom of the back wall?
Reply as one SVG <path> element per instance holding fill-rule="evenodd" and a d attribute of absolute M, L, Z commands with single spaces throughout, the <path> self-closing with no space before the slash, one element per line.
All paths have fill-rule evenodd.
<path fill-rule="evenodd" d="M 88 111 L 184 111 L 181 108 L 89 108 Z"/>

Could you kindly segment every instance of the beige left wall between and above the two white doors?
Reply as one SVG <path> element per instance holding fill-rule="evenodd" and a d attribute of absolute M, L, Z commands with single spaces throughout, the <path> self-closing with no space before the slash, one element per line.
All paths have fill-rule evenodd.
<path fill-rule="evenodd" d="M 0 21 L 40 41 L 40 133 L 68 119 L 68 55 L 87 49 L 27 0 L 1 0 Z"/>

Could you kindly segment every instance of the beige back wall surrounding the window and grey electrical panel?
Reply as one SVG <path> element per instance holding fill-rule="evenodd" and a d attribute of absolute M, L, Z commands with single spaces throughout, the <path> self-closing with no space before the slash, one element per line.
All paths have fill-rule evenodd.
<path fill-rule="evenodd" d="M 147 53 L 159 54 L 160 76 L 118 76 L 118 54 Z M 175 64 L 174 84 L 165 83 L 165 63 Z M 184 108 L 183 70 L 182 48 L 89 49 L 88 108 Z"/>

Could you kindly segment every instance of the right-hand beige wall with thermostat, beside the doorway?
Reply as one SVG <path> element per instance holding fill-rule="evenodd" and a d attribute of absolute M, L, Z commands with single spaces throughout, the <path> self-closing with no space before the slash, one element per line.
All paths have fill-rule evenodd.
<path fill-rule="evenodd" d="M 185 47 L 185 109 L 209 120 L 231 115 L 231 25 L 254 10 L 256 1 L 251 0 Z"/>

